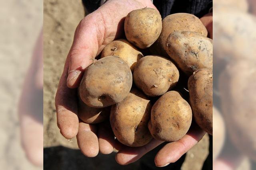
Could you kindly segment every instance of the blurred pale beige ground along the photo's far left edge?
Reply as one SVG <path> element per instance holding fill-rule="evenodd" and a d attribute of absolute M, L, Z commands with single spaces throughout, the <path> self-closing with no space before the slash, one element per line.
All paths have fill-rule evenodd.
<path fill-rule="evenodd" d="M 40 170 L 20 143 L 18 100 L 42 28 L 41 0 L 0 1 L 0 169 Z"/>

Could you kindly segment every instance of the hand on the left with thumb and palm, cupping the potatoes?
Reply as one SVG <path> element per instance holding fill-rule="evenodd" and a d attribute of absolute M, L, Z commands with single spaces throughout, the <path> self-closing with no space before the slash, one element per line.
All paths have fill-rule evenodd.
<path fill-rule="evenodd" d="M 96 156 L 99 151 L 111 153 L 114 135 L 109 125 L 79 122 L 76 88 L 84 69 L 108 43 L 124 34 L 124 17 L 132 10 L 145 7 L 155 8 L 150 0 L 109 0 L 80 21 L 76 28 L 56 92 L 55 105 L 60 133 L 67 139 L 77 135 L 78 146 L 88 157 Z"/>

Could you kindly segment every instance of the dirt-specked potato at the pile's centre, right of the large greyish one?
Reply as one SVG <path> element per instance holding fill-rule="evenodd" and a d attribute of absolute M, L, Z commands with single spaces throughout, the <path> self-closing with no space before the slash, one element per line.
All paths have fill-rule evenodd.
<path fill-rule="evenodd" d="M 160 96 L 171 90 L 179 80 L 179 71 L 168 59 L 148 55 L 137 62 L 134 82 L 148 96 Z"/>

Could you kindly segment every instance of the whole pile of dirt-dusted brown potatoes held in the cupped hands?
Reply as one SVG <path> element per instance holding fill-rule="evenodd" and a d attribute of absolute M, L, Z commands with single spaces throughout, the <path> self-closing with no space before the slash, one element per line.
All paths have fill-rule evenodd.
<path fill-rule="evenodd" d="M 212 39 L 199 18 L 143 8 L 124 21 L 126 39 L 106 45 L 84 72 L 78 116 L 110 121 L 120 143 L 177 141 L 192 117 L 212 135 Z M 146 55 L 146 56 L 145 56 Z"/>

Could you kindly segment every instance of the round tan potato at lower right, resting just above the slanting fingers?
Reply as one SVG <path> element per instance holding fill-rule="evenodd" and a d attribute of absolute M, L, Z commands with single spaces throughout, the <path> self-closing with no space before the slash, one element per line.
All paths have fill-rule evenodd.
<path fill-rule="evenodd" d="M 192 122 L 192 110 L 179 92 L 170 91 L 161 96 L 151 109 L 148 129 L 160 141 L 177 141 L 187 132 Z"/>

